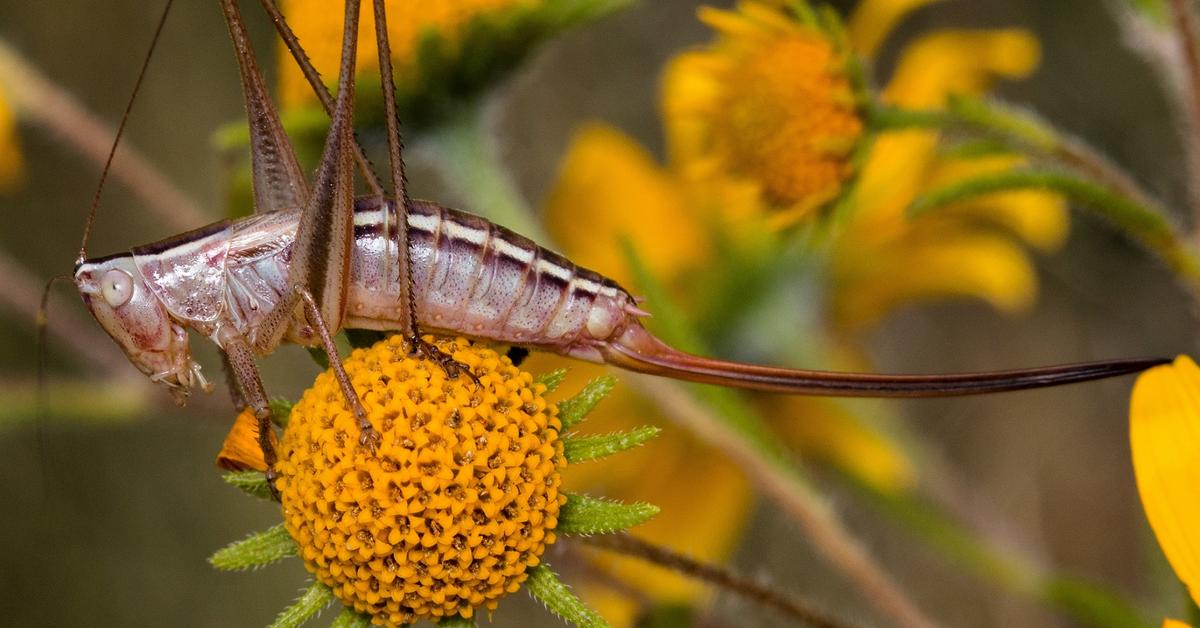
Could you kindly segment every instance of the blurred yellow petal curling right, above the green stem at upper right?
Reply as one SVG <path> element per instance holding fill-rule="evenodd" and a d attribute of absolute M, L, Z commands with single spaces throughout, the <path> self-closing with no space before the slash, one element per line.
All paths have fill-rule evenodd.
<path fill-rule="evenodd" d="M 1026 30 L 946 30 L 905 49 L 883 98 L 935 108 L 952 94 L 980 94 L 996 78 L 1021 78 L 1038 65 L 1040 47 Z"/>

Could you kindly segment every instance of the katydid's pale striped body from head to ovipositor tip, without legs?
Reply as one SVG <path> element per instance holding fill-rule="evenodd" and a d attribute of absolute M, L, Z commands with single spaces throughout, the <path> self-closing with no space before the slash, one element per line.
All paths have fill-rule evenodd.
<path fill-rule="evenodd" d="M 176 394 L 192 382 L 185 328 L 218 345 L 254 343 L 288 293 L 299 211 L 215 223 L 80 264 L 84 300 L 143 372 Z M 929 397 L 1001 393 L 1142 371 L 1148 358 L 955 375 L 868 375 L 760 366 L 691 355 L 654 337 L 628 291 L 485 219 L 414 201 L 408 211 L 413 291 L 402 280 L 396 204 L 354 208 L 343 327 L 401 329 L 409 298 L 421 329 L 521 345 L 631 371 L 752 390 L 826 396 Z M 391 226 L 391 227 L 390 227 Z M 412 297 L 409 297 L 412 294 Z M 101 298 L 102 297 L 102 298 Z M 284 340 L 312 345 L 292 324 Z"/>

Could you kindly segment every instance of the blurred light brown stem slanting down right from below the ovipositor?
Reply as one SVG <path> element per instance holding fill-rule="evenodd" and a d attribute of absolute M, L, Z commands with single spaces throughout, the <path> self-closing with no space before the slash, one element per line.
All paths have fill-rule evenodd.
<path fill-rule="evenodd" d="M 800 525 L 812 548 L 894 626 L 934 626 L 808 483 L 766 460 L 679 384 L 646 375 L 622 373 L 622 378 L 654 401 L 665 417 L 730 456 L 769 500 Z"/>

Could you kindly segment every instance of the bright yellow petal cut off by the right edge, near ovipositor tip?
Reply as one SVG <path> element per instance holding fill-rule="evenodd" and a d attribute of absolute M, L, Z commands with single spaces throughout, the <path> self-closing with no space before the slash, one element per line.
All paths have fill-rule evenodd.
<path fill-rule="evenodd" d="M 1150 527 L 1200 604 L 1200 369 L 1190 358 L 1138 378 L 1129 444 Z"/>

